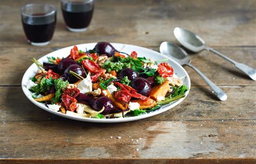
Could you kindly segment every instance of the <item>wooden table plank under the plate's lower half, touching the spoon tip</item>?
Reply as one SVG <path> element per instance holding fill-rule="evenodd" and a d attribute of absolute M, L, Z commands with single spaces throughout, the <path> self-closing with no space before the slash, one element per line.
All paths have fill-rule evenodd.
<path fill-rule="evenodd" d="M 244 120 L 256 119 L 256 86 L 223 87 L 226 101 L 208 94 L 207 87 L 193 86 L 180 105 L 146 120 Z M 21 87 L 0 87 L 1 121 L 51 121 L 60 118 L 33 105 Z"/>

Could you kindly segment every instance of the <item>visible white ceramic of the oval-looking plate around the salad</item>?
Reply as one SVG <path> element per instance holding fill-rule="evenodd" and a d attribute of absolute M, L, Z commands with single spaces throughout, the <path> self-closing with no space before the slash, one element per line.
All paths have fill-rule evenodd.
<path fill-rule="evenodd" d="M 140 47 L 140 46 L 135 46 L 135 45 L 129 45 L 129 44 L 120 44 L 120 43 L 111 43 L 118 51 L 122 51 L 122 52 L 126 52 L 128 54 L 130 54 L 132 51 L 136 51 L 138 53 L 139 57 L 146 57 L 146 58 L 152 58 L 154 60 L 161 60 L 161 59 L 169 59 L 168 61 L 166 61 L 167 63 L 169 63 L 174 70 L 174 73 L 177 74 L 178 77 L 185 77 L 183 78 L 183 82 L 185 85 L 187 85 L 190 88 L 190 77 L 188 76 L 187 72 L 183 69 L 183 67 L 181 65 L 179 65 L 176 61 L 172 60 L 171 58 L 160 54 L 159 52 L 150 50 L 150 49 L 146 49 L 144 47 Z M 93 47 L 95 47 L 96 43 L 86 43 L 86 44 L 79 44 L 77 45 L 79 50 L 83 50 L 86 51 L 87 50 L 91 50 L 93 49 Z M 47 57 L 67 57 L 70 54 L 70 50 L 72 49 L 73 46 L 69 46 L 69 47 L 65 47 L 63 49 L 57 50 L 57 51 L 53 51 L 49 54 L 46 54 L 45 56 L 43 56 L 42 58 L 38 59 L 39 62 L 43 63 L 43 62 L 48 62 Z M 43 103 L 38 103 L 37 101 L 35 101 L 32 96 L 31 96 L 31 92 L 26 88 L 26 82 L 33 76 L 35 76 L 35 73 L 37 72 L 38 67 L 36 64 L 32 64 L 28 70 L 26 70 L 26 72 L 24 73 L 24 76 L 22 78 L 22 90 L 24 92 L 24 94 L 26 95 L 26 97 L 36 106 L 42 108 L 45 111 L 48 111 L 52 114 L 56 114 L 59 115 L 60 117 L 64 117 L 64 118 L 69 118 L 69 119 L 73 119 L 73 120 L 79 120 L 79 121 L 87 121 L 87 122 L 102 122 L 102 123 L 111 123 L 111 122 L 126 122 L 126 121 L 134 121 L 134 120 L 140 120 L 140 119 L 144 119 L 144 118 L 148 118 L 148 117 L 152 117 L 153 115 L 157 115 L 160 113 L 163 113 L 167 110 L 170 110 L 171 108 L 173 108 L 174 106 L 178 105 L 181 103 L 181 101 L 183 101 L 185 99 L 179 99 L 176 101 L 173 101 L 170 104 L 164 105 L 162 106 L 159 110 L 147 113 L 147 114 L 143 114 L 143 115 L 139 115 L 136 117 L 127 117 L 127 118 L 115 118 L 115 119 L 93 119 L 93 118 L 82 118 L 82 117 L 73 117 L 70 115 L 66 115 L 60 112 L 55 112 L 50 110 L 46 105 L 44 105 Z M 186 95 L 188 94 L 188 92 L 186 92 Z"/>

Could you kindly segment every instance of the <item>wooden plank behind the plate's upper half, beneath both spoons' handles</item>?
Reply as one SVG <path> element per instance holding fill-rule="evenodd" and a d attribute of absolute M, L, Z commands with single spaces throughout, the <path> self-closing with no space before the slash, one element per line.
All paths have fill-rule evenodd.
<path fill-rule="evenodd" d="M 32 64 L 31 58 L 40 58 L 45 54 L 57 50 L 59 47 L 0 47 L 0 85 L 21 85 L 24 72 Z M 158 47 L 149 47 L 159 51 Z M 223 47 L 220 52 L 227 54 L 234 60 L 246 63 L 252 67 L 256 65 L 256 49 L 253 47 Z M 255 85 L 255 81 L 235 69 L 226 60 L 211 52 L 192 54 L 192 64 L 198 67 L 217 85 Z M 192 85 L 206 85 L 204 81 L 189 67 L 185 67 L 190 75 Z"/>

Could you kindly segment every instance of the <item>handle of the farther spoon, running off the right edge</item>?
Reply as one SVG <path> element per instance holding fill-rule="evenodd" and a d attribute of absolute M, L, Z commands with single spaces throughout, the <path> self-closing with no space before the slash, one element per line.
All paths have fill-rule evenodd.
<path fill-rule="evenodd" d="M 243 63 L 238 63 L 237 61 L 234 61 L 231 58 L 228 58 L 224 54 L 212 49 L 211 47 L 206 47 L 206 50 L 212 51 L 213 53 L 218 54 L 218 56 L 226 59 L 227 61 L 230 61 L 231 63 L 233 63 L 235 65 L 235 67 L 237 67 L 237 69 L 239 69 L 240 71 L 247 74 L 251 79 L 256 80 L 256 70 L 254 70 L 252 67 L 250 67 L 246 64 L 243 64 Z"/>

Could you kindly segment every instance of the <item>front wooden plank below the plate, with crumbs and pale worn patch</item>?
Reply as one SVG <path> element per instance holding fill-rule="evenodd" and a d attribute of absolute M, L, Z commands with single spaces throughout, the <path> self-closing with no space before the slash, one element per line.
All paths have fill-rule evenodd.
<path fill-rule="evenodd" d="M 0 158 L 254 159 L 255 121 L 3 121 Z M 143 132 L 143 133 L 142 133 Z M 120 136 L 120 139 L 118 139 Z M 22 146 L 21 146 L 22 145 Z"/>

